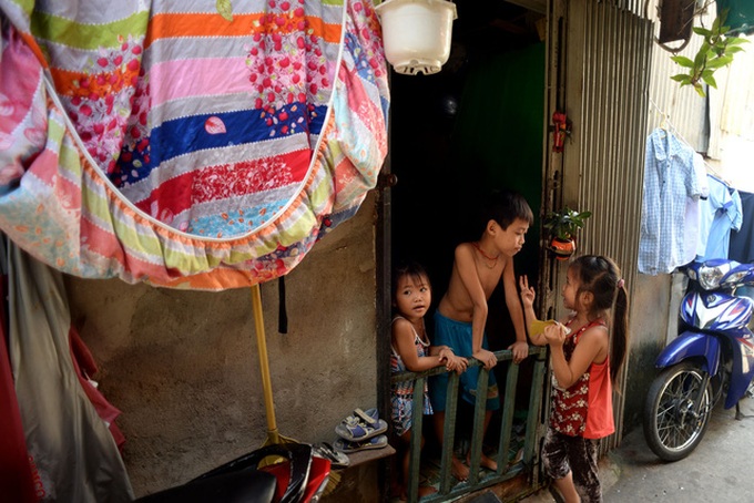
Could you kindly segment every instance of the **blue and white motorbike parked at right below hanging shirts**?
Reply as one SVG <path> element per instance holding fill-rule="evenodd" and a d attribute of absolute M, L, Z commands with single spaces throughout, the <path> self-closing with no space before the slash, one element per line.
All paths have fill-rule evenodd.
<path fill-rule="evenodd" d="M 740 419 L 738 401 L 752 394 L 754 378 L 754 301 L 742 288 L 754 285 L 754 264 L 711 259 L 683 271 L 690 287 L 681 301 L 680 335 L 656 358 L 662 370 L 643 413 L 646 443 L 663 461 L 696 449 L 722 397 Z"/>

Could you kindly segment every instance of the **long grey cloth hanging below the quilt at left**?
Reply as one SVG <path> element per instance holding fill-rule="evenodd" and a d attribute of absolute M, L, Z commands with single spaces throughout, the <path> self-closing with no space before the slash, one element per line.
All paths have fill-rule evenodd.
<path fill-rule="evenodd" d="M 132 502 L 116 441 L 71 358 L 62 274 L 14 244 L 9 264 L 9 353 L 40 501 Z"/>

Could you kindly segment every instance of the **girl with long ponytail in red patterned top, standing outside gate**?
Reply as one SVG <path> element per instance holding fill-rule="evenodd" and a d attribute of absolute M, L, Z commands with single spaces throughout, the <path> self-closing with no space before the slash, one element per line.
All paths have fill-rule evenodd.
<path fill-rule="evenodd" d="M 532 327 L 534 289 L 526 276 L 520 286 L 527 326 Z M 587 255 L 569 266 L 562 296 L 563 306 L 573 312 L 540 333 L 530 333 L 532 343 L 550 345 L 552 365 L 542 461 L 567 503 L 601 502 L 598 440 L 615 431 L 612 384 L 628 346 L 628 295 L 615 263 Z"/>

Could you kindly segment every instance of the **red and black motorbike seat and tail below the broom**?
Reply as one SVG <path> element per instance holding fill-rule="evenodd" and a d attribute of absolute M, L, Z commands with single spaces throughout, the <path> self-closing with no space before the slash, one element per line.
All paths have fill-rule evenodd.
<path fill-rule="evenodd" d="M 265 464 L 267 461 L 276 461 Z M 327 486 L 330 460 L 307 443 L 252 451 L 185 484 L 139 503 L 315 503 Z"/>

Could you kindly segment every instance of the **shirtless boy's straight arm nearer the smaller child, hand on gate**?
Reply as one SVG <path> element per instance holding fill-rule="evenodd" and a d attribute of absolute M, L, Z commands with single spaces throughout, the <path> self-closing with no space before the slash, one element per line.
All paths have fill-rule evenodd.
<path fill-rule="evenodd" d="M 473 305 L 473 312 L 471 314 L 471 356 L 489 370 L 497 365 L 498 358 L 492 351 L 481 347 L 485 326 L 487 325 L 487 295 L 479 280 L 477 267 L 473 264 L 473 248 L 470 244 L 463 243 L 456 247 L 454 267 L 458 268 L 458 276 L 461 278 L 461 283 Z"/>

